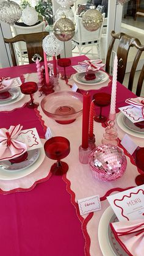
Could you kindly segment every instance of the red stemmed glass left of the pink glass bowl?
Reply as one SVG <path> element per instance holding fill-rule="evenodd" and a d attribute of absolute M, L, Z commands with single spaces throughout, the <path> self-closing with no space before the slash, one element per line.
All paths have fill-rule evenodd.
<path fill-rule="evenodd" d="M 20 86 L 21 92 L 26 95 L 30 95 L 31 102 L 27 103 L 28 108 L 37 108 L 39 106 L 39 103 L 34 103 L 34 98 L 32 97 L 32 94 L 37 92 L 38 87 L 36 82 L 24 82 Z"/>

